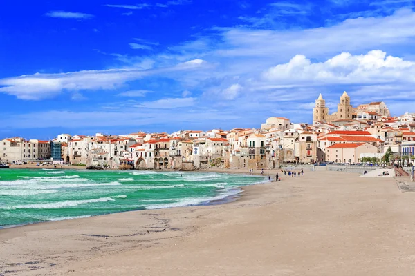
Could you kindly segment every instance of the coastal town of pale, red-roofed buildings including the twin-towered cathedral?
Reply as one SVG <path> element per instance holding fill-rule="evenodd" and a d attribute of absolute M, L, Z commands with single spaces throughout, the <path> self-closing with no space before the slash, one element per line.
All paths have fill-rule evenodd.
<path fill-rule="evenodd" d="M 270 117 L 257 128 L 95 136 L 60 134 L 51 141 L 9 137 L 0 143 L 0 161 L 6 164 L 266 170 L 282 164 L 382 163 L 389 150 L 405 166 L 415 161 L 415 113 L 391 116 L 383 101 L 353 107 L 349 95 L 343 92 L 332 113 L 323 96 L 317 97 L 313 124 Z"/>

